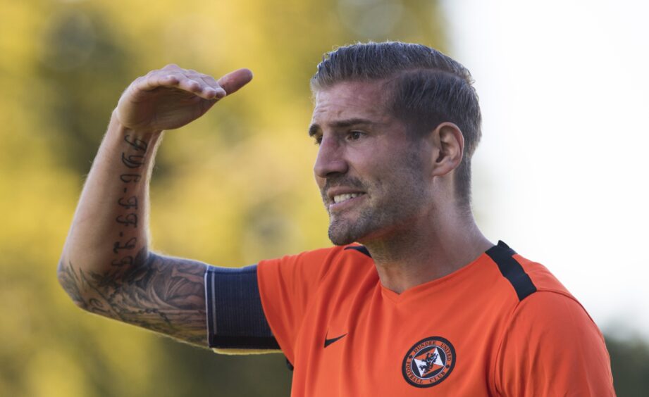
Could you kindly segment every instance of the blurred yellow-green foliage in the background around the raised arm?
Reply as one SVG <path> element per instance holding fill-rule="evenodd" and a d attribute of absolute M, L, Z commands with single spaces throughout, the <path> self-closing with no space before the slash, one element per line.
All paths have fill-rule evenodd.
<path fill-rule="evenodd" d="M 350 25 L 349 4 L 357 15 L 373 3 L 1 1 L 0 396 L 214 394 L 197 388 L 218 374 L 230 395 L 228 379 L 250 368 L 271 380 L 238 382 L 231 393 L 285 391 L 285 369 L 254 367 L 259 359 L 214 364 L 214 376 L 197 378 L 192 363 L 212 365 L 211 356 L 172 353 L 149 332 L 78 310 L 56 264 L 121 90 L 166 63 L 216 77 L 247 67 L 255 77 L 201 120 L 166 132 L 152 182 L 154 248 L 240 266 L 328 244 L 306 131 L 316 63 L 358 40 L 439 40 L 411 29 L 438 29 L 424 0 L 393 1 L 416 21 L 401 17 L 385 34 Z"/>

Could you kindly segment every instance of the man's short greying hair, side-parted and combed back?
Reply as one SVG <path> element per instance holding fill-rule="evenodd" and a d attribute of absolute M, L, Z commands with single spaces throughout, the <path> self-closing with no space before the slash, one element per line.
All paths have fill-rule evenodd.
<path fill-rule="evenodd" d="M 311 90 L 340 82 L 385 81 L 388 109 L 412 137 L 421 137 L 442 122 L 455 123 L 464 136 L 464 156 L 456 170 L 455 189 L 462 206 L 471 203 L 471 156 L 481 137 L 478 94 L 469 70 L 422 44 L 357 43 L 323 56 Z"/>

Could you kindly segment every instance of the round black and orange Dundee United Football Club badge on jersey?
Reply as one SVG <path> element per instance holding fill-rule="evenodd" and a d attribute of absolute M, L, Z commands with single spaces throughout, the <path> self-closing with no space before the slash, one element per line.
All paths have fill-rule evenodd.
<path fill-rule="evenodd" d="M 441 336 L 422 339 L 410 348 L 401 370 L 406 382 L 416 387 L 435 386 L 455 367 L 455 348 Z"/>

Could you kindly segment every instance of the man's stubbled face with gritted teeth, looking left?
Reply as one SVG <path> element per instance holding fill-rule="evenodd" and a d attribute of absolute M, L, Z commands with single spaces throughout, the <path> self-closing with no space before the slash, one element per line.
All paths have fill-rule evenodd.
<path fill-rule="evenodd" d="M 333 244 L 407 231 L 431 206 L 426 150 L 387 110 L 387 96 L 378 82 L 344 82 L 316 93 L 309 134 L 319 142 L 314 173 Z"/>

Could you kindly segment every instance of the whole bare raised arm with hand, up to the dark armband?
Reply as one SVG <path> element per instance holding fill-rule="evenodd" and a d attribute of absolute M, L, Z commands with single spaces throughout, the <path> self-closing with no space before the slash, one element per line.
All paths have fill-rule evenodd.
<path fill-rule="evenodd" d="M 77 305 L 205 346 L 207 265 L 149 251 L 149 179 L 162 130 L 196 120 L 251 78 L 241 69 L 217 82 L 167 65 L 125 89 L 58 265 L 58 280 Z"/>

